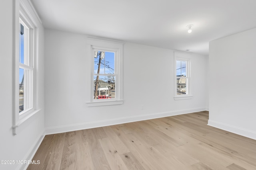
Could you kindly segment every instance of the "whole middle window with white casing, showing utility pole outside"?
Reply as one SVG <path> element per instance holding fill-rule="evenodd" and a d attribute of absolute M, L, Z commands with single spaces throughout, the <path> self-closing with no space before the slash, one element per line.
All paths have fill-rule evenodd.
<path fill-rule="evenodd" d="M 92 61 L 88 106 L 122 104 L 122 44 L 88 39 Z"/>

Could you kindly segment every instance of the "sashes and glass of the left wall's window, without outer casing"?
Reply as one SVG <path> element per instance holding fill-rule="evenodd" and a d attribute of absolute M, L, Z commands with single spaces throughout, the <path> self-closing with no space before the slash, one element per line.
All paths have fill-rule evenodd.
<path fill-rule="evenodd" d="M 32 29 L 20 18 L 19 31 L 19 113 L 33 108 Z"/>

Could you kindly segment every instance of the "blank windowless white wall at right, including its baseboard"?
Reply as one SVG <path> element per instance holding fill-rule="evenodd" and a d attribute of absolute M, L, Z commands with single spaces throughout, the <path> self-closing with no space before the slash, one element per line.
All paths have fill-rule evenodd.
<path fill-rule="evenodd" d="M 209 125 L 256 139 L 256 29 L 210 42 Z"/>

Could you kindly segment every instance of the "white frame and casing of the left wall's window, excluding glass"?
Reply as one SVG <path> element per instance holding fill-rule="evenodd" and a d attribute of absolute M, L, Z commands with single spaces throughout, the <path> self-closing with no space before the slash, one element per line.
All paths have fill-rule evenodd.
<path fill-rule="evenodd" d="M 17 134 L 17 128 L 28 120 L 32 115 L 38 113 L 40 109 L 38 109 L 38 100 L 35 94 L 38 93 L 38 84 L 36 78 L 36 62 L 38 61 L 38 26 L 36 21 L 28 12 L 26 6 L 22 1 L 15 1 L 15 15 L 13 20 L 15 21 L 15 27 L 13 29 L 14 34 L 14 44 L 13 49 L 14 53 L 14 108 L 13 108 L 13 119 L 12 119 L 12 128 L 13 134 Z M 28 50 L 26 51 L 28 55 L 28 62 L 22 64 L 20 63 L 20 21 L 28 27 Z M 24 56 L 25 61 L 25 56 Z M 28 94 L 24 94 L 24 98 L 26 98 L 26 109 L 24 111 L 19 112 L 19 68 L 24 68 L 28 74 L 26 74 L 26 85 L 24 84 L 24 88 L 29 89 L 26 90 L 29 92 Z M 25 75 L 24 75 L 25 76 Z M 26 93 L 26 92 L 25 92 Z M 25 104 L 24 104 L 25 105 Z"/>

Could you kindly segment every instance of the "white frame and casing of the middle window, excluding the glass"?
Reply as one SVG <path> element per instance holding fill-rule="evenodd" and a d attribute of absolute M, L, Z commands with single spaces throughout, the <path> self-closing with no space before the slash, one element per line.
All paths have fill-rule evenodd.
<path fill-rule="evenodd" d="M 115 98 L 108 98 L 106 100 L 94 99 L 94 50 L 109 51 L 115 53 Z M 88 38 L 87 57 L 90 57 L 91 61 L 91 86 L 90 98 L 88 98 L 90 102 L 87 102 L 87 106 L 92 107 L 123 104 L 123 44 L 119 42 Z"/>

